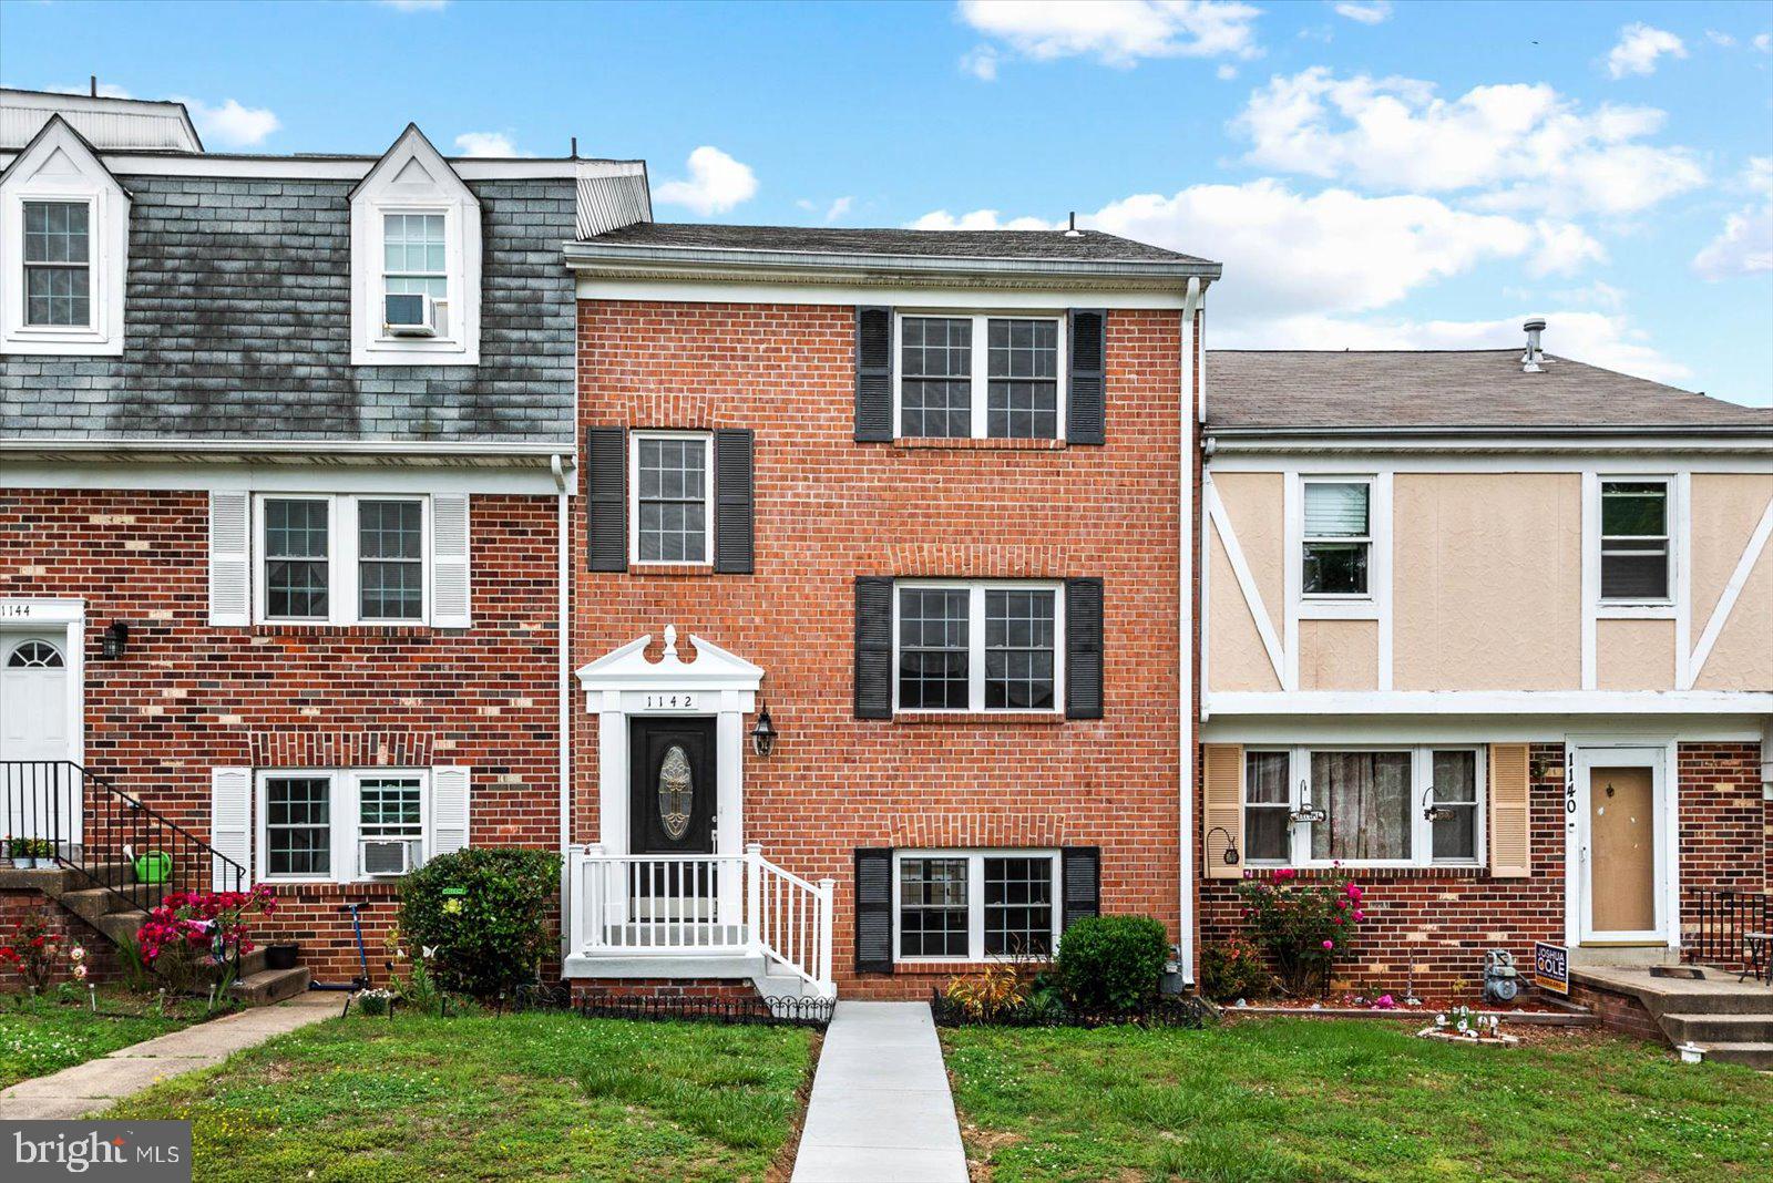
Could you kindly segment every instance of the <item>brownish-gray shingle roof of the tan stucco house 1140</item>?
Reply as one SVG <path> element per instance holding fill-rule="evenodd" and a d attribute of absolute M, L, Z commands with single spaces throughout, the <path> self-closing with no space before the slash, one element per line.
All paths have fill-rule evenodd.
<path fill-rule="evenodd" d="M 1773 409 L 1521 349 L 1207 351 L 1207 429 L 1773 429 Z"/>

